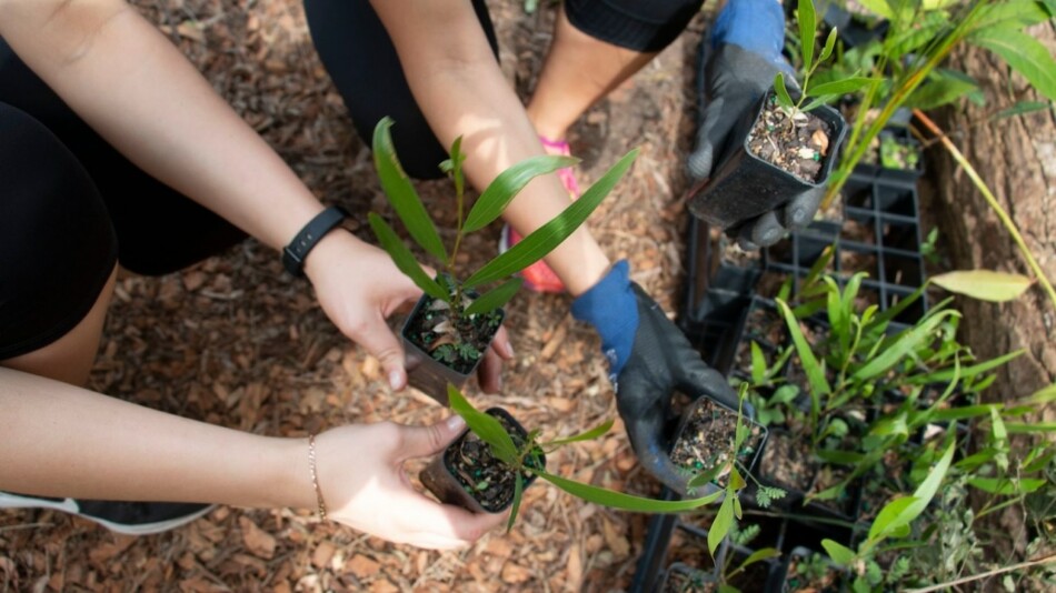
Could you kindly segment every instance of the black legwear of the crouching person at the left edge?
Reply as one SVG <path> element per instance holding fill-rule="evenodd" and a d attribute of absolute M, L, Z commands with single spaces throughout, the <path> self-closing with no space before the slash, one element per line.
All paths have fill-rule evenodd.
<path fill-rule="evenodd" d="M 0 360 L 72 330 L 116 261 L 162 274 L 242 238 L 129 162 L 0 39 Z"/>

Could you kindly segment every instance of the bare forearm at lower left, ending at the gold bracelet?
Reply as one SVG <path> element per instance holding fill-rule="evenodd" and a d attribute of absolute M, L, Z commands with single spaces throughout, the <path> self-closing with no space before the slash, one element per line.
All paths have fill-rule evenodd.
<path fill-rule="evenodd" d="M 303 440 L 165 414 L 0 368 L 0 490 L 312 507 Z"/>

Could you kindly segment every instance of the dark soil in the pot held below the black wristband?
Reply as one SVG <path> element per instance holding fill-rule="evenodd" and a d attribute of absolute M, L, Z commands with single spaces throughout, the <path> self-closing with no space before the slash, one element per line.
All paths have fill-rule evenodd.
<path fill-rule="evenodd" d="M 407 325 L 407 338 L 450 369 L 462 374 L 471 372 L 499 331 L 501 310 L 474 315 L 472 319 L 460 315 L 452 320 L 449 308 L 438 309 L 447 303 L 428 294 L 422 295 L 422 299 L 425 302 L 417 309 L 418 314 Z M 434 331 L 434 328 L 445 322 L 454 325 L 457 336 L 451 332 Z"/>

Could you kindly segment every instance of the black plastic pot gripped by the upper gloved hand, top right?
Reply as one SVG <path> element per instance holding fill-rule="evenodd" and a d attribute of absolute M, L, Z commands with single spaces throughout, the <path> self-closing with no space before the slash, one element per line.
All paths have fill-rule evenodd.
<path fill-rule="evenodd" d="M 760 159 L 749 149 L 751 130 L 771 97 L 773 91 L 763 96 L 735 125 L 730 138 L 736 140 L 731 141 L 708 183 L 689 200 L 689 211 L 696 217 L 720 229 L 729 229 L 828 181 L 846 133 L 843 115 L 828 105 L 810 111 L 829 125 L 829 143 L 821 157 L 817 179 L 806 181 Z"/>

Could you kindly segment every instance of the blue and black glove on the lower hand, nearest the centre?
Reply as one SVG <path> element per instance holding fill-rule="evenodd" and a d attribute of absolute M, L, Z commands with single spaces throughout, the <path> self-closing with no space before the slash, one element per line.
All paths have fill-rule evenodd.
<path fill-rule="evenodd" d="M 665 485 L 686 494 L 688 476 L 668 456 L 675 391 L 690 399 L 709 395 L 734 410 L 737 394 L 700 360 L 660 305 L 630 281 L 626 260 L 576 299 L 572 316 L 594 325 L 601 336 L 617 409 L 639 462 Z"/>

